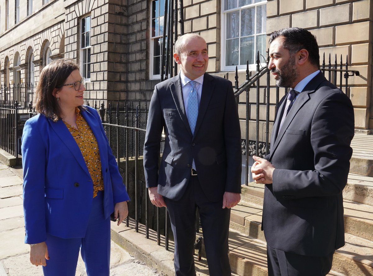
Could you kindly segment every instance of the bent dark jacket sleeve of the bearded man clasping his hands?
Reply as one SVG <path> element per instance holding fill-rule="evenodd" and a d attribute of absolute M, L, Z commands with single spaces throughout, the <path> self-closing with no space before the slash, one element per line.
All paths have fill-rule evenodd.
<path fill-rule="evenodd" d="M 354 136 L 350 99 L 341 92 L 331 93 L 320 101 L 314 114 L 309 115 L 313 116 L 310 144 L 314 152 L 314 170 L 275 169 L 273 192 L 276 198 L 338 195 L 347 183 L 352 155 L 350 143 Z"/>

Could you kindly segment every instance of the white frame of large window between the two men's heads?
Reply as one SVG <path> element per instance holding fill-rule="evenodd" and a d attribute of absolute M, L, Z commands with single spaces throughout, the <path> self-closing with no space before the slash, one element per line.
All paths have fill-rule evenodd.
<path fill-rule="evenodd" d="M 245 64 L 242 64 L 242 65 L 229 65 L 229 66 L 226 66 L 225 65 L 225 62 L 226 62 L 226 41 L 227 41 L 227 38 L 226 38 L 226 32 L 227 32 L 227 21 L 228 21 L 228 16 L 227 14 L 228 13 L 231 13 L 231 12 L 235 12 L 235 11 L 240 11 L 240 10 L 244 10 L 244 9 L 247 9 L 247 8 L 250 8 L 250 7 L 257 7 L 257 6 L 263 6 L 264 7 L 264 11 L 266 12 L 266 3 L 267 1 L 260 1 L 258 3 L 254 3 L 254 4 L 248 4 L 248 5 L 245 5 L 245 6 L 239 6 L 239 0 L 236 0 L 237 1 L 237 7 L 236 8 L 233 8 L 233 9 L 229 9 L 229 10 L 225 10 L 225 1 L 222 1 L 222 28 L 221 28 L 221 37 L 222 37 L 222 47 L 221 47 L 221 63 L 220 63 L 220 69 L 222 71 L 233 71 L 236 69 L 236 66 L 239 70 L 244 70 L 246 69 L 247 65 L 246 63 Z M 241 16 L 241 13 L 240 13 L 240 16 Z M 267 16 L 267 14 L 266 14 Z M 256 24 L 257 24 L 257 16 L 256 16 L 256 12 L 255 12 L 255 19 L 254 19 L 254 26 L 256 28 Z M 241 19 L 239 20 L 239 24 L 240 24 L 240 27 L 241 27 Z M 261 32 L 261 33 L 254 33 L 254 63 L 250 64 L 249 63 L 249 69 L 256 69 L 256 57 L 257 57 L 257 52 L 258 50 L 256 49 L 256 38 L 257 38 L 257 35 L 266 35 L 266 30 L 264 30 L 264 32 Z M 241 38 L 241 33 L 239 34 L 239 36 L 237 38 Z M 239 54 L 241 54 L 241 50 L 239 50 Z M 263 57 L 260 57 L 260 62 L 262 65 L 265 65 L 266 62 L 266 53 L 260 53 L 259 52 L 259 55 L 263 55 Z M 238 58 L 238 61 L 240 61 L 240 57 Z"/>

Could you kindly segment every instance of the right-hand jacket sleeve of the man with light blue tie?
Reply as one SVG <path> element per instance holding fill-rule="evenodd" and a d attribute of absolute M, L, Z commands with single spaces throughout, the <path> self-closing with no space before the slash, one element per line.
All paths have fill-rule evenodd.
<path fill-rule="evenodd" d="M 232 85 L 230 85 L 228 89 L 223 121 L 227 156 L 225 191 L 241 193 L 241 129 Z"/>

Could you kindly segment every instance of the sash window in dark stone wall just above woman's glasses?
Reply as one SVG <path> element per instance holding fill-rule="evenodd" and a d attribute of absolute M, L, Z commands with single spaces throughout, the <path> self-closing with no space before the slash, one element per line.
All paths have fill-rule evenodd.
<path fill-rule="evenodd" d="M 91 78 L 91 16 L 82 18 L 80 39 L 80 68 L 86 81 Z"/>

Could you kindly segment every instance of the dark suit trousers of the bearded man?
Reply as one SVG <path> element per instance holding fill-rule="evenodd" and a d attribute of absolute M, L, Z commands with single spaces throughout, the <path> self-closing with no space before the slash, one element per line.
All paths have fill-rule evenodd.
<path fill-rule="evenodd" d="M 325 276 L 332 268 L 333 254 L 305 256 L 267 245 L 268 276 Z"/>

